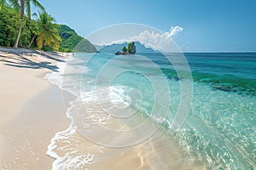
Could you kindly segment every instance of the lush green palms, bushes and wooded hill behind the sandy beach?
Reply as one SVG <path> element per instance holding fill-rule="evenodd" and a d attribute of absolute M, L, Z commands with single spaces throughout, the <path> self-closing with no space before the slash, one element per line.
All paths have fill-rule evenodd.
<path fill-rule="evenodd" d="M 32 14 L 31 3 L 39 9 Z M 79 45 L 80 43 L 80 45 Z M 0 0 L 0 46 L 44 51 L 90 52 L 96 48 L 73 29 L 55 23 L 37 0 Z"/>

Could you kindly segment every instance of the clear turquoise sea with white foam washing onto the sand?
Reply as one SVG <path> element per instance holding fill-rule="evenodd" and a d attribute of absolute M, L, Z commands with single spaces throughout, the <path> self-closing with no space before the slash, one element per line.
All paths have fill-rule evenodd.
<path fill-rule="evenodd" d="M 146 169 L 256 169 L 256 53 L 179 55 L 80 53 L 59 64 L 47 78 L 77 99 L 49 145 L 53 167 L 95 169 L 137 148 Z M 179 158 L 146 149 L 153 139 Z"/>

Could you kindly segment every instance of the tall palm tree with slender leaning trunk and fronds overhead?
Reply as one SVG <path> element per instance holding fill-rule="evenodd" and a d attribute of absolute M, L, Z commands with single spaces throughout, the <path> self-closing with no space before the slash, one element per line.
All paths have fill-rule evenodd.
<path fill-rule="evenodd" d="M 20 28 L 18 32 L 18 36 L 15 41 L 14 48 L 18 48 L 18 44 L 20 41 L 20 34 L 22 30 L 22 21 L 25 15 L 25 10 L 27 16 L 31 17 L 31 3 L 35 6 L 40 8 L 41 10 L 44 10 L 44 7 L 41 5 L 41 3 L 38 3 L 38 0 L 0 0 L 0 10 L 3 8 L 3 5 L 8 3 L 10 6 L 16 8 L 20 11 Z"/>

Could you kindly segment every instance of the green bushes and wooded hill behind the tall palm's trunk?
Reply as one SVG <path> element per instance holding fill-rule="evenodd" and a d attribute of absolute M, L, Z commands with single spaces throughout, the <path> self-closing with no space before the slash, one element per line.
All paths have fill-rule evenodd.
<path fill-rule="evenodd" d="M 4 0 L 0 0 L 0 3 L 3 3 L 3 1 Z M 58 44 L 59 42 L 61 42 L 62 39 L 62 42 L 60 44 L 61 46 L 59 48 L 61 52 L 96 52 L 96 48 L 88 40 L 80 37 L 71 28 L 64 25 L 60 26 L 53 24 L 53 19 L 49 18 L 50 16 L 48 14 L 44 14 L 44 16 L 44 23 L 43 20 L 40 21 L 39 18 L 38 21 L 36 21 L 31 20 L 26 15 L 23 17 L 22 31 L 19 41 L 20 47 L 42 48 L 43 50 L 51 51 L 58 49 Z M 3 7 L 0 9 L 0 46 L 14 46 L 20 28 L 20 20 L 21 19 L 19 10 L 15 8 L 10 8 L 7 5 L 3 5 Z M 46 39 L 43 36 L 43 31 L 44 36 L 46 35 Z M 40 35 L 41 37 L 39 37 Z M 38 47 L 38 45 L 40 44 L 37 43 L 39 39 L 44 39 L 41 42 L 42 46 L 40 47 Z"/>

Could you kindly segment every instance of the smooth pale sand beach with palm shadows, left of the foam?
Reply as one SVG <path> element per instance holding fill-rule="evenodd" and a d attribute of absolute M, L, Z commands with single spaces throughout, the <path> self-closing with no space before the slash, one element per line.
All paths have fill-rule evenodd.
<path fill-rule="evenodd" d="M 0 48 L 0 169 L 51 169 L 50 139 L 69 122 L 61 89 L 44 77 L 62 58 Z"/>

